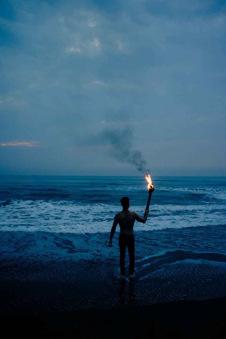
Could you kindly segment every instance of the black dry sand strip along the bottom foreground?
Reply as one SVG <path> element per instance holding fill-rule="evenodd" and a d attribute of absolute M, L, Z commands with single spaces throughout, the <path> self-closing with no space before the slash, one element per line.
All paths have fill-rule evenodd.
<path fill-rule="evenodd" d="M 1 330 L 23 338 L 224 338 L 226 297 L 141 307 L 1 316 Z"/>

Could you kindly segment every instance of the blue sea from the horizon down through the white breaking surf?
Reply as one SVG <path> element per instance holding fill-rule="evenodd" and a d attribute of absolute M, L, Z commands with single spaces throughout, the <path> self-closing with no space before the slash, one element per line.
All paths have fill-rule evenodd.
<path fill-rule="evenodd" d="M 226 177 L 153 177 L 150 213 L 135 231 L 225 225 Z M 120 199 L 143 216 L 144 177 L 1 176 L 0 231 L 109 232 Z"/>

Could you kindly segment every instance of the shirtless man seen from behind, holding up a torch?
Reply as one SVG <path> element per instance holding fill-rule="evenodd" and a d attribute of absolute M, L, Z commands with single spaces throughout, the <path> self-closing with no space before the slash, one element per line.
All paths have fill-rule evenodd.
<path fill-rule="evenodd" d="M 133 235 L 133 225 L 135 220 L 145 223 L 147 220 L 147 214 L 149 210 L 145 210 L 144 217 L 140 217 L 137 213 L 129 211 L 129 198 L 123 197 L 121 200 L 123 210 L 115 215 L 113 225 L 111 227 L 109 246 L 112 247 L 112 238 L 115 234 L 116 226 L 120 226 L 119 234 L 119 250 L 120 250 L 120 269 L 121 278 L 125 278 L 125 255 L 126 247 L 129 253 L 129 277 L 130 281 L 133 282 L 133 273 L 135 266 L 135 242 Z"/>

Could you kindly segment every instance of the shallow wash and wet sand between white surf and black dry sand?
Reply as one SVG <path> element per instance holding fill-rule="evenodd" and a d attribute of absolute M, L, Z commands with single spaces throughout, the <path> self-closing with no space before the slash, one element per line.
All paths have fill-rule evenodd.
<path fill-rule="evenodd" d="M 105 234 L 56 236 L 2 232 L 0 314 L 143 307 L 224 297 L 224 237 L 218 239 L 219 252 L 212 252 L 214 248 L 210 248 L 210 243 L 205 246 L 207 230 L 208 238 L 216 245 L 215 240 L 219 238 L 216 230 L 200 228 L 195 252 L 191 240 L 198 235 L 196 229 L 165 231 L 161 233 L 161 243 L 158 243 L 160 232 L 150 232 L 148 251 L 146 235 L 137 233 L 135 279 L 138 281 L 134 286 L 128 279 L 124 285 L 118 281 L 117 242 L 114 249 L 109 250 L 109 246 L 105 246 Z M 203 238 L 205 242 L 202 243 Z M 180 245 L 173 250 L 170 246 L 175 239 L 180 240 Z"/>

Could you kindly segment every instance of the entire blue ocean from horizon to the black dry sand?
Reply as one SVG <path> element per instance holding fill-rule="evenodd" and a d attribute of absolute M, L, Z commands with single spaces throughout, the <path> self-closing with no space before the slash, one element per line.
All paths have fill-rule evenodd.
<path fill-rule="evenodd" d="M 136 305 L 224 296 L 226 177 L 152 177 L 152 182 L 155 191 L 147 222 L 134 225 L 138 283 L 132 297 L 123 299 L 125 305 L 131 298 Z M 61 291 L 67 299 L 63 305 L 56 288 L 49 307 L 22 293 L 16 303 L 5 297 L 1 312 L 21 310 L 24 304 L 33 305 L 35 312 L 44 307 L 45 312 L 53 307 L 117 307 L 122 298 L 110 298 L 109 286 L 117 288 L 120 274 L 119 226 L 112 248 L 108 240 L 123 196 L 130 198 L 130 211 L 143 216 L 148 198 L 145 178 L 0 176 L 3 285 L 56 287 L 61 282 L 78 287 L 75 298 Z M 108 286 L 105 298 L 103 290 L 84 296 L 91 283 Z"/>

